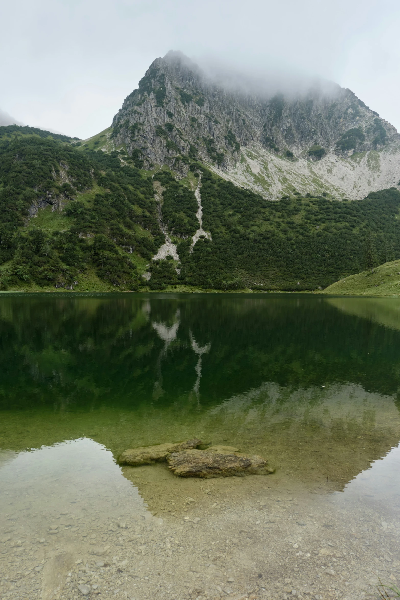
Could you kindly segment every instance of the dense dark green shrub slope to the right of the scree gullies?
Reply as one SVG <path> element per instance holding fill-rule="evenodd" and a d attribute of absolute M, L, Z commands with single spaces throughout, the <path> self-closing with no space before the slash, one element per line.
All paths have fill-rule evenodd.
<path fill-rule="evenodd" d="M 269 202 L 203 169 L 203 227 L 212 241 L 178 245 L 189 285 L 313 290 L 362 270 L 368 244 L 376 264 L 400 256 L 400 193 L 365 200 L 284 196 Z"/>

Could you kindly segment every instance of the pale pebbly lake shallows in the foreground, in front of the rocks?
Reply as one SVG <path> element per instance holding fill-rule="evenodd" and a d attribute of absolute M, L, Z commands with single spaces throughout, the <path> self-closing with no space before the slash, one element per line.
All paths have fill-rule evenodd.
<path fill-rule="evenodd" d="M 399 448 L 333 494 L 284 472 L 124 478 L 85 438 L 2 458 L 5 598 L 362 598 L 400 575 Z"/>

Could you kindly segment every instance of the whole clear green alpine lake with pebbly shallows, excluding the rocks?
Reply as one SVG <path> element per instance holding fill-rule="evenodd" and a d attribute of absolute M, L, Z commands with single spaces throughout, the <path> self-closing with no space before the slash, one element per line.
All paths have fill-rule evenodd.
<path fill-rule="evenodd" d="M 0 329 L 0 598 L 399 586 L 400 299 L 2 293 Z M 275 473 L 118 464 L 194 437 Z"/>

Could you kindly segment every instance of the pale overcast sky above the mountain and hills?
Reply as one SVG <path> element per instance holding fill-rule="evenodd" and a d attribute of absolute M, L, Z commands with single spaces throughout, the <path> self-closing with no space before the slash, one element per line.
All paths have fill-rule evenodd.
<path fill-rule="evenodd" d="M 0 17 L 0 124 L 92 136 L 174 49 L 333 80 L 400 130 L 398 0 L 15 0 Z"/>

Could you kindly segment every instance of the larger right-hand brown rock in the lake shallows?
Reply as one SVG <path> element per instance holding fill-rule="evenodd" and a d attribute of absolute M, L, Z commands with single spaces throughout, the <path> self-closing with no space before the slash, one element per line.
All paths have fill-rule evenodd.
<path fill-rule="evenodd" d="M 179 477 L 231 477 L 269 475 L 274 469 L 258 455 L 225 454 L 209 450 L 183 450 L 167 457 L 169 468 Z"/>

